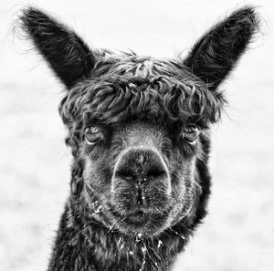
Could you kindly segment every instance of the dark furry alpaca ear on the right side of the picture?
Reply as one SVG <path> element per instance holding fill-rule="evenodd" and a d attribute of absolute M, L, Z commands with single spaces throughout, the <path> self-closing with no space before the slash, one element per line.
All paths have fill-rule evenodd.
<path fill-rule="evenodd" d="M 198 40 L 185 58 L 184 66 L 208 84 L 210 90 L 215 90 L 257 31 L 258 17 L 254 8 L 241 8 Z"/>

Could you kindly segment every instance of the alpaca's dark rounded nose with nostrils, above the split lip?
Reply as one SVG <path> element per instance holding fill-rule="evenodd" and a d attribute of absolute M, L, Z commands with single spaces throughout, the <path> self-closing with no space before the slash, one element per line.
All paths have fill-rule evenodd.
<path fill-rule="evenodd" d="M 151 149 L 132 148 L 122 154 L 117 162 L 115 177 L 142 185 L 167 178 L 167 167 L 163 158 Z"/>

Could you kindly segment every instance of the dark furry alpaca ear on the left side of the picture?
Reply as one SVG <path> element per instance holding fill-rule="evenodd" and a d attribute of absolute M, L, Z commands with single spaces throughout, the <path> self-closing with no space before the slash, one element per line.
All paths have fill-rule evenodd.
<path fill-rule="evenodd" d="M 68 89 L 89 75 L 95 57 L 71 29 L 36 8 L 23 10 L 21 26 Z"/>

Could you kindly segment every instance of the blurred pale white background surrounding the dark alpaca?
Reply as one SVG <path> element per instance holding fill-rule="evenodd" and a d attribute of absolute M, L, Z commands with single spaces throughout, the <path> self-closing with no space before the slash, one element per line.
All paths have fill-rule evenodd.
<path fill-rule="evenodd" d="M 78 0 L 0 5 L 0 270 L 46 270 L 68 196 L 70 153 L 58 117 L 64 90 L 12 23 L 26 4 L 67 22 L 91 47 L 183 55 L 237 7 L 258 6 L 262 32 L 222 89 L 227 115 L 213 129 L 212 196 L 205 224 L 176 271 L 274 270 L 274 2 Z"/>

